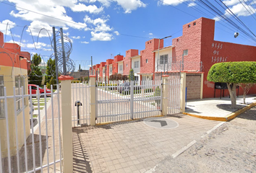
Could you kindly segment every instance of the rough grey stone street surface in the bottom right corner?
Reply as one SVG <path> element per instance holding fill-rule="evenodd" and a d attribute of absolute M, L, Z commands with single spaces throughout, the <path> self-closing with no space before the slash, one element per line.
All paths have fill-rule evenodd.
<path fill-rule="evenodd" d="M 252 107 L 197 141 L 176 159 L 166 157 L 150 173 L 256 172 L 255 127 L 256 107 Z"/>

